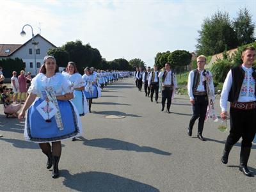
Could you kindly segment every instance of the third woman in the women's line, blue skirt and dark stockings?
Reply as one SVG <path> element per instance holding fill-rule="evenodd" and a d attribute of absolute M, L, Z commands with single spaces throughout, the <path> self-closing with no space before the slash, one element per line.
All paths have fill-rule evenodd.
<path fill-rule="evenodd" d="M 92 99 L 97 99 L 99 95 L 98 86 L 96 85 L 96 77 L 93 76 L 91 68 L 84 68 L 84 75 L 82 78 L 85 81 L 84 84 L 84 94 L 89 103 L 89 111 L 92 113 Z"/>

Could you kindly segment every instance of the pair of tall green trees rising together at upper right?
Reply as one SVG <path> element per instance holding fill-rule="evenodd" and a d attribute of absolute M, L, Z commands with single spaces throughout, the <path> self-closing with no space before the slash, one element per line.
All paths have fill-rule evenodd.
<path fill-rule="evenodd" d="M 225 50 L 234 49 L 255 41 L 255 24 L 246 9 L 240 9 L 237 17 L 230 19 L 228 12 L 220 10 L 206 18 L 197 39 L 196 54 L 210 56 Z"/>

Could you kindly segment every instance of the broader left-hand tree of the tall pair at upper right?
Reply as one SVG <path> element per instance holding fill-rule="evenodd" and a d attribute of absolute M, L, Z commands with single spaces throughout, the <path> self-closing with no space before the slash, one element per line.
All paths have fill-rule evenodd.
<path fill-rule="evenodd" d="M 214 13 L 206 18 L 197 39 L 196 53 L 212 55 L 227 49 L 237 47 L 237 37 L 227 12 Z"/>

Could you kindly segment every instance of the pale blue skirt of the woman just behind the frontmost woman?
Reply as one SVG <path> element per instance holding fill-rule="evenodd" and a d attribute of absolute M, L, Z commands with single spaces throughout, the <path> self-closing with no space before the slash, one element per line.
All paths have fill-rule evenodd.
<path fill-rule="evenodd" d="M 79 115 L 83 116 L 84 114 L 88 113 L 88 103 L 83 91 L 74 90 L 74 96 L 75 97 L 72 99 L 72 102 L 76 106 Z"/>

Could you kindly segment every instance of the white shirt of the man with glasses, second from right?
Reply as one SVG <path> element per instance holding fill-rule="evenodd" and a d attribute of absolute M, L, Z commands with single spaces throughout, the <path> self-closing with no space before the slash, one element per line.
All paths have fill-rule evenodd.
<path fill-rule="evenodd" d="M 204 70 L 202 70 L 202 71 L 199 70 L 200 80 L 199 80 L 199 84 L 198 84 L 198 87 L 196 89 L 196 92 L 205 92 L 203 72 L 204 72 Z M 209 72 L 209 76 L 212 76 L 211 72 Z M 189 75 L 188 75 L 188 95 L 189 95 L 189 98 L 191 100 L 194 99 L 194 95 L 193 95 L 193 81 L 194 81 L 194 70 L 191 70 L 191 72 L 189 72 Z M 213 82 L 212 82 L 212 84 L 213 84 Z"/>

